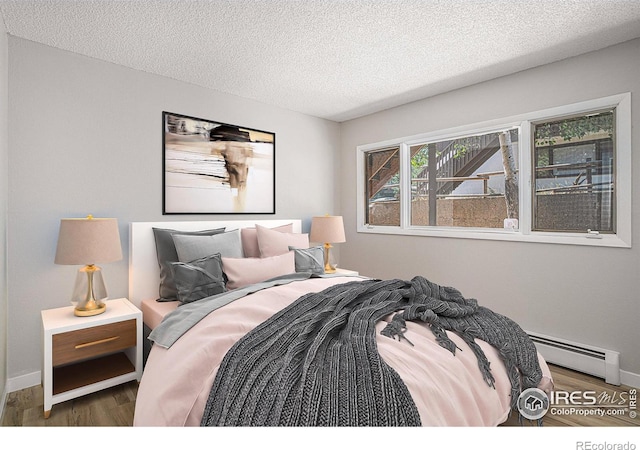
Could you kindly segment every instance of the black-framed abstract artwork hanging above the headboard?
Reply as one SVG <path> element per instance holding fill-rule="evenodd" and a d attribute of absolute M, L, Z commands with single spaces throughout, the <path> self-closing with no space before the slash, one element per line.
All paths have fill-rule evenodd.
<path fill-rule="evenodd" d="M 170 112 L 163 214 L 275 214 L 276 135 Z"/>

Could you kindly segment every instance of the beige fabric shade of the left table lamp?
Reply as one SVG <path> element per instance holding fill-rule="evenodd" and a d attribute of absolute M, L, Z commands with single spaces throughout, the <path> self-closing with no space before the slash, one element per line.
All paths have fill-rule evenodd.
<path fill-rule="evenodd" d="M 117 219 L 62 219 L 56 264 L 84 265 L 118 261 L 122 246 Z"/>

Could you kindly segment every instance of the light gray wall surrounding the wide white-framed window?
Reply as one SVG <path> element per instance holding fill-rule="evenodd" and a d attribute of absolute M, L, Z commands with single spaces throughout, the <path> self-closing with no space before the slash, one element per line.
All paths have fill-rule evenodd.
<path fill-rule="evenodd" d="M 623 92 L 632 93 L 637 117 L 638 73 L 640 40 L 634 40 L 343 123 L 340 185 L 347 242 L 341 244 L 341 265 L 375 277 L 423 275 L 457 287 L 525 329 L 617 350 L 622 370 L 640 374 L 637 189 L 632 249 L 359 234 L 355 196 L 358 145 Z M 637 126 L 632 145 L 640 149 Z M 637 186 L 636 156 L 632 171 Z"/>

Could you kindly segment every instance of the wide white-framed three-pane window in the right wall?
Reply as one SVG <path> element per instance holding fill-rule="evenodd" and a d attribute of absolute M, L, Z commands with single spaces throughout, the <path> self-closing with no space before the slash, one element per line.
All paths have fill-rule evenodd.
<path fill-rule="evenodd" d="M 629 94 L 358 152 L 360 232 L 631 245 Z"/>

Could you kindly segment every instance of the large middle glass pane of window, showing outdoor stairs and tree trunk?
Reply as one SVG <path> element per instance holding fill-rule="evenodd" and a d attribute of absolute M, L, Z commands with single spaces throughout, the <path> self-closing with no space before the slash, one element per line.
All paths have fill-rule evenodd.
<path fill-rule="evenodd" d="M 518 130 L 414 145 L 410 153 L 412 225 L 503 228 L 504 219 L 518 218 Z"/>

